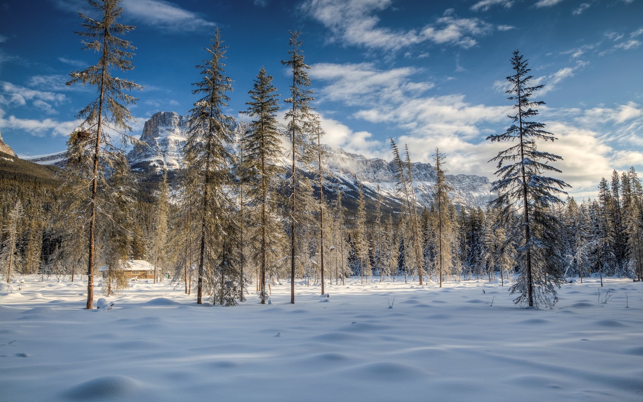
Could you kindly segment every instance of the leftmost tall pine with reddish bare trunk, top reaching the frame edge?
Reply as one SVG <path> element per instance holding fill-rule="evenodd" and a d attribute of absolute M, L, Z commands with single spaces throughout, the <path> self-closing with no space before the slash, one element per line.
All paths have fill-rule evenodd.
<path fill-rule="evenodd" d="M 132 65 L 132 50 L 134 46 L 129 41 L 120 38 L 120 35 L 134 29 L 134 26 L 116 23 L 116 19 L 123 14 L 119 7 L 120 0 L 90 0 L 89 5 L 100 13 L 100 21 L 78 13 L 83 20 L 82 26 L 85 32 L 76 32 L 80 37 L 88 39 L 83 41 L 84 50 L 93 50 L 99 53 L 98 63 L 82 71 L 72 71 L 69 75 L 71 80 L 67 85 L 80 83 L 82 85 L 93 85 L 97 87 L 98 97 L 90 102 L 78 113 L 79 118 L 84 119 L 86 129 L 79 131 L 82 136 L 76 140 L 84 147 L 91 147 L 89 151 L 92 159 L 91 170 L 87 171 L 86 164 L 79 164 L 82 167 L 82 174 L 91 176 L 89 187 L 91 198 L 89 200 L 89 230 L 88 230 L 88 258 L 87 258 L 87 309 L 92 309 L 94 297 L 94 273 L 95 273 L 95 242 L 96 242 L 96 215 L 98 214 L 98 191 L 104 183 L 104 171 L 102 167 L 109 165 L 109 155 L 122 153 L 111 145 L 111 135 L 104 131 L 109 126 L 117 132 L 131 131 L 128 122 L 132 120 L 127 105 L 136 102 L 134 96 L 128 95 L 125 91 L 132 89 L 143 89 L 138 84 L 129 80 L 113 77 L 113 69 L 129 71 L 134 68 Z M 125 137 L 131 139 L 131 137 Z M 71 139 L 70 139 L 71 141 Z M 68 157 L 72 156 L 69 154 Z"/>

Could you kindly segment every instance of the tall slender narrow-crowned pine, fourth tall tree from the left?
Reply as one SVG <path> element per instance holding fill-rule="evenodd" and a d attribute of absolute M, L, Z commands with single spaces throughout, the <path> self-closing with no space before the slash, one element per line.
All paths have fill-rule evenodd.
<path fill-rule="evenodd" d="M 293 75 L 293 85 L 290 86 L 290 97 L 286 98 L 284 102 L 291 104 L 291 109 L 285 114 L 285 120 L 288 121 L 287 131 L 289 132 L 291 140 L 291 180 L 290 180 L 290 236 L 291 236 L 291 272 L 290 272 L 290 302 L 294 304 L 294 279 L 296 274 L 296 257 L 297 257 L 297 221 L 301 216 L 299 213 L 298 197 L 302 192 L 302 183 L 305 178 L 300 178 L 297 174 L 297 169 L 302 165 L 309 163 L 309 152 L 307 149 L 310 146 L 309 127 L 307 123 L 311 118 L 311 102 L 314 100 L 312 97 L 313 91 L 307 89 L 311 86 L 311 80 L 308 78 L 307 69 L 310 66 L 303 62 L 303 51 L 301 50 L 302 41 L 299 40 L 299 31 L 290 32 L 290 46 L 291 50 L 288 51 L 289 60 L 282 60 L 282 64 L 288 66 Z"/>

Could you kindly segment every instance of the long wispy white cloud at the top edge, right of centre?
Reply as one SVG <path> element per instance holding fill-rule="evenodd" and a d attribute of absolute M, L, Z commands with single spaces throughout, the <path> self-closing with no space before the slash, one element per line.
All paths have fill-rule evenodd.
<path fill-rule="evenodd" d="M 392 3 L 392 0 L 308 0 L 302 10 L 331 30 L 330 41 L 367 48 L 399 50 L 422 42 L 470 48 L 475 46 L 476 36 L 493 32 L 493 25 L 477 18 L 460 18 L 453 9 L 422 28 L 394 30 L 379 26 L 377 12 L 390 8 Z"/>

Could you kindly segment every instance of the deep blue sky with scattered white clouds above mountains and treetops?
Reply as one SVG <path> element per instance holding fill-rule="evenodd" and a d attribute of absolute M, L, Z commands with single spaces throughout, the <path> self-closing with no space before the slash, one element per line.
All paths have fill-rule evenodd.
<path fill-rule="evenodd" d="M 511 122 L 505 95 L 516 48 L 532 82 L 545 84 L 538 121 L 565 158 L 559 178 L 576 197 L 594 197 L 601 176 L 634 165 L 643 172 L 643 1 L 641 0 L 124 0 L 125 35 L 138 49 L 134 70 L 116 73 L 145 86 L 131 108 L 135 134 L 157 111 L 188 111 L 217 26 L 234 80 L 228 113 L 246 109 L 264 66 L 281 98 L 289 77 L 289 30 L 302 31 L 314 106 L 325 142 L 390 160 L 388 138 L 413 161 L 435 147 L 451 174 L 493 179 L 499 147 L 484 139 Z M 21 156 L 62 151 L 75 114 L 95 89 L 66 87 L 73 69 L 95 64 L 82 51 L 83 0 L 0 0 L 0 132 Z M 507 144 L 501 145 L 508 146 Z M 643 173 L 640 174 L 643 176 Z"/>

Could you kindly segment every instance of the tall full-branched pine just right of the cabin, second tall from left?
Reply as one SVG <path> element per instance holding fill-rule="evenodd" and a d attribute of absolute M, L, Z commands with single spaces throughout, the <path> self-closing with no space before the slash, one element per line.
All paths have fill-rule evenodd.
<path fill-rule="evenodd" d="M 203 80 L 193 84 L 197 89 L 192 93 L 201 97 L 190 111 L 190 130 L 183 151 L 186 161 L 183 196 L 188 203 L 183 207 L 191 212 L 198 227 L 193 233 L 199 250 L 197 304 L 203 304 L 206 285 L 209 289 L 238 287 L 238 277 L 230 272 L 235 259 L 227 254 L 231 246 L 236 246 L 230 244 L 236 233 L 230 232 L 233 228 L 227 223 L 231 200 L 226 191 L 230 188 L 231 155 L 225 145 L 232 140 L 233 118 L 223 112 L 230 100 L 227 93 L 232 90 L 232 80 L 224 75 L 227 46 L 223 46 L 219 28 L 211 41 L 206 48 L 210 59 L 196 66 Z M 232 295 L 220 290 L 219 295 L 222 293 Z M 231 297 L 238 297 L 238 293 Z M 223 302 L 233 304 L 233 299 Z"/>

